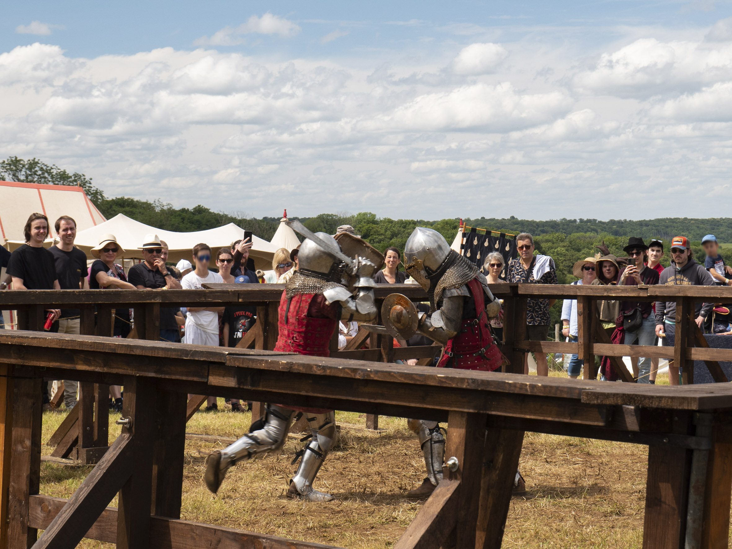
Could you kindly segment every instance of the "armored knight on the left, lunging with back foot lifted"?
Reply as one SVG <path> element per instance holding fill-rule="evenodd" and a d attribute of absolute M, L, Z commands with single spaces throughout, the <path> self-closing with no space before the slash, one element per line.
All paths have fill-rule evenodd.
<path fill-rule="evenodd" d="M 377 265 L 362 257 L 347 264 L 336 239 L 325 233 L 314 236 L 318 237 L 318 244 L 310 239 L 302 242 L 299 270 L 290 278 L 280 298 L 277 321 L 280 333 L 275 351 L 329 356 L 329 344 L 341 319 L 367 322 L 376 318 L 372 277 Z M 268 403 L 264 418 L 253 422 L 249 433 L 209 455 L 204 476 L 209 490 L 217 492 L 226 471 L 235 463 L 282 448 L 296 414 L 305 414 L 311 436 L 293 461 L 294 464 L 300 458 L 297 472 L 290 480 L 288 496 L 305 501 L 334 499 L 329 493 L 313 488 L 315 475 L 333 444 L 334 411 L 286 404 Z"/>

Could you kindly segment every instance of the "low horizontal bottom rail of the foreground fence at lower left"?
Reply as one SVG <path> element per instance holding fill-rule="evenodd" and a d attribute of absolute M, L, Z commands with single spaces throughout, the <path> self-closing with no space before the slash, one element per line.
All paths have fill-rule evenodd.
<path fill-rule="evenodd" d="M 46 529 L 61 512 L 66 499 L 51 496 L 31 496 L 31 524 L 37 529 Z M 100 542 L 117 542 L 116 507 L 107 507 L 85 537 Z M 302 542 L 296 539 L 255 534 L 242 530 L 223 528 L 212 524 L 194 523 L 188 520 L 174 520 L 165 517 L 150 518 L 150 545 L 156 549 L 201 549 L 201 548 L 264 548 L 264 549 L 338 549 L 332 545 Z"/>

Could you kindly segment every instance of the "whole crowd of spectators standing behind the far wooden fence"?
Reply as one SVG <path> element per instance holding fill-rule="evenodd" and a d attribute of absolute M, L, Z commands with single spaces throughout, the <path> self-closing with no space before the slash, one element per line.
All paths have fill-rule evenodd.
<path fill-rule="evenodd" d="M 86 253 L 74 245 L 76 223 L 69 216 L 61 216 L 53 225 L 54 244 L 44 247 L 51 236 L 51 227 L 44 214 L 34 213 L 29 217 L 24 229 L 25 244 L 9 253 L 0 247 L 2 266 L 7 267 L 7 276 L 0 281 L 0 290 L 94 290 L 114 289 L 180 289 L 200 290 L 212 283 L 286 283 L 298 269 L 299 246 L 292 250 L 281 248 L 274 254 L 272 270 L 256 272 L 250 250 L 251 239 L 232 242 L 231 246 L 214 251 L 208 244 L 200 243 L 193 247 L 190 261 L 181 260 L 173 266 L 168 263 L 168 245 L 156 234 L 145 236 L 138 247 L 142 261 L 125 271 L 117 258 L 124 256 L 125 250 L 113 234 L 105 234 L 99 244 L 91 249 L 94 261 L 87 263 Z M 350 225 L 342 225 L 337 232 L 350 232 Z M 504 255 L 489 253 L 482 264 L 482 272 L 490 284 L 528 283 L 557 284 L 556 264 L 548 255 L 536 253 L 534 238 L 522 233 L 515 237 L 518 257 L 506 265 Z M 685 236 L 671 239 L 668 247 L 671 265 L 663 267 L 665 255 L 664 242 L 654 239 L 646 244 L 641 237 L 630 237 L 623 248 L 626 257 L 619 258 L 609 253 L 600 253 L 577 261 L 572 275 L 577 280 L 572 285 L 732 285 L 732 267 L 725 264 L 719 252 L 719 243 L 714 235 L 703 238 L 706 258 L 698 263 Z M 212 265 L 212 263 L 215 265 Z M 410 282 L 408 275 L 400 270 L 401 252 L 396 247 L 384 250 L 384 269 L 374 276 L 376 283 Z M 506 272 L 507 280 L 501 279 Z M 526 305 L 526 334 L 524 339 L 545 341 L 550 331 L 550 308 L 553 299 L 532 298 Z M 617 299 L 598 299 L 595 301 L 597 317 L 602 329 L 612 343 L 641 346 L 654 346 L 659 341 L 668 345 L 675 335 L 676 302 L 635 302 Z M 722 307 L 724 309 L 725 307 Z M 715 324 L 713 303 L 698 303 L 695 310 L 695 323 L 707 332 L 732 333 L 728 323 Z M 723 311 L 722 311 L 723 312 Z M 726 314 L 729 310 L 726 310 Z M 52 332 L 79 334 L 81 329 L 80 310 L 48 310 L 47 325 Z M 242 341 L 254 326 L 256 307 L 250 305 L 231 305 L 227 307 L 205 307 L 191 304 L 189 307 L 160 308 L 160 340 L 169 342 L 193 343 L 208 346 L 234 347 Z M 0 315 L 0 325 L 5 319 Z M 490 319 L 490 329 L 497 340 L 503 340 L 502 316 Z M 565 299 L 561 307 L 561 336 L 569 342 L 577 342 L 578 301 Z M 128 337 L 134 326 L 134 316 L 129 308 L 117 308 L 113 318 L 113 337 Z M 339 347 L 347 345 L 356 332 L 356 323 L 341 323 Z M 409 343 L 408 343 L 409 344 Z M 415 344 L 424 344 L 418 342 Z M 535 354 L 537 374 L 548 376 L 548 359 L 543 353 Z M 415 361 L 409 361 L 415 362 Z M 586 362 L 592 362 L 587 364 Z M 598 365 L 595 361 L 583 361 L 578 355 L 565 355 L 564 369 L 570 378 L 578 378 L 582 370 L 589 378 L 614 381 L 618 374 L 610 361 L 603 357 Z M 632 362 L 633 373 L 639 383 L 655 382 L 658 359 L 640 357 Z M 524 373 L 529 373 L 529 353 L 524 359 Z M 669 363 L 671 384 L 679 383 L 679 368 Z M 110 389 L 110 406 L 122 409 L 122 392 L 119 386 Z M 63 402 L 66 408 L 75 406 L 78 384 L 64 380 Z M 43 395 L 48 406 L 48 389 Z M 227 402 L 232 411 L 244 411 L 239 401 Z M 214 397 L 209 397 L 206 410 L 217 409 Z"/>

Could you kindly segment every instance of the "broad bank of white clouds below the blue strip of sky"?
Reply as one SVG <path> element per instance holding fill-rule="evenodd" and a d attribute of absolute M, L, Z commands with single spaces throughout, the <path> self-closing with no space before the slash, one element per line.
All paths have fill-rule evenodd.
<path fill-rule="evenodd" d="M 732 171 L 731 44 L 643 40 L 604 55 L 466 40 L 440 55 L 281 62 L 20 46 L 0 53 L 0 158 L 42 158 L 110 195 L 257 215 L 608 218 L 637 203 L 647 217 L 646 198 L 667 207 L 669 187 L 692 191 L 684 214 L 703 214 Z"/>

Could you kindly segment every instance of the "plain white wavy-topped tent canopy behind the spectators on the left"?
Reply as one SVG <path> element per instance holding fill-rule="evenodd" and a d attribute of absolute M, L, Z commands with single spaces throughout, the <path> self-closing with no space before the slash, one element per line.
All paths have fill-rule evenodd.
<path fill-rule="evenodd" d="M 199 242 L 209 244 L 215 258 L 219 248 L 230 247 L 232 242 L 241 239 L 244 236 L 244 229 L 237 227 L 234 223 L 229 223 L 223 227 L 212 228 L 206 231 L 176 233 L 173 231 L 163 231 L 163 229 L 140 223 L 124 214 L 116 214 L 111 220 L 88 228 L 86 231 L 80 231 L 76 235 L 75 244 L 86 253 L 87 257 L 92 258 L 90 250 L 99 244 L 100 236 L 113 234 L 116 236 L 117 242 L 125 250 L 125 259 L 142 259 L 142 253 L 141 250 L 138 250 L 138 247 L 143 244 L 145 235 L 151 233 L 157 234 L 161 240 L 165 240 L 165 243 L 168 244 L 168 250 L 170 250 L 168 261 L 175 263 L 180 259 L 190 261 L 193 247 Z M 271 268 L 272 258 L 277 248 L 258 236 L 253 236 L 253 241 L 254 245 L 250 251 L 250 258 L 253 258 L 256 268 Z"/>

